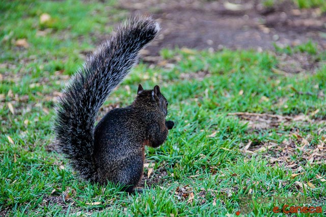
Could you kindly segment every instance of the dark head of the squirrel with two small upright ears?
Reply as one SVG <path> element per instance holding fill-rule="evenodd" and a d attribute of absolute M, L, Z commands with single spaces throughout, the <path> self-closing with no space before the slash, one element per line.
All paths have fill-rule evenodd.
<path fill-rule="evenodd" d="M 159 86 L 154 86 L 153 89 L 144 90 L 143 86 L 140 84 L 137 90 L 137 98 L 135 103 L 141 103 L 144 106 L 154 104 L 157 105 L 158 108 L 165 116 L 168 115 L 168 101 L 167 99 L 161 94 Z"/>

